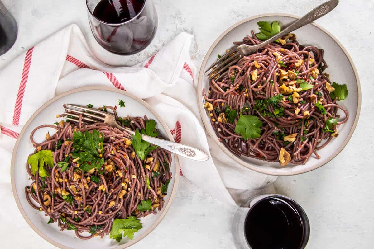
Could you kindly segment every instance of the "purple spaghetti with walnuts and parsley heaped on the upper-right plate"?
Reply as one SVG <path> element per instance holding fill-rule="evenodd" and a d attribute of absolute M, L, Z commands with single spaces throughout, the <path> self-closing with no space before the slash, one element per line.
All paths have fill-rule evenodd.
<path fill-rule="evenodd" d="M 305 164 L 312 154 L 320 158 L 318 150 L 347 121 L 337 102 L 348 90 L 324 73 L 324 50 L 300 45 L 294 34 L 280 41 L 240 59 L 202 94 L 218 140 L 232 153 L 282 166 Z M 234 44 L 260 42 L 252 31 Z"/>

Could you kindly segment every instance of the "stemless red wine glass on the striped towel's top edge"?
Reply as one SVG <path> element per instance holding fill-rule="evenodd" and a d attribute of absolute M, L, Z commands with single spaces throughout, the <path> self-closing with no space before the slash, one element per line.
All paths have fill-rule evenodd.
<path fill-rule="evenodd" d="M 157 13 L 151 0 L 86 0 L 88 19 L 96 41 L 119 55 L 145 49 L 157 29 Z"/>

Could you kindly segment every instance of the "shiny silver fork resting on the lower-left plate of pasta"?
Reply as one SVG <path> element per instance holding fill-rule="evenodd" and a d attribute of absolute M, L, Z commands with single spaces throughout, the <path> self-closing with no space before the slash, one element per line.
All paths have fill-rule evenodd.
<path fill-rule="evenodd" d="M 126 128 L 123 128 L 119 124 L 117 124 L 116 118 L 113 114 L 102 112 L 99 110 L 95 110 L 92 108 L 87 108 L 86 106 L 80 106 L 80 105 L 72 105 L 72 104 L 65 104 L 63 105 L 65 109 L 65 114 L 73 116 L 75 118 L 68 118 L 67 116 L 61 116 L 61 118 L 70 119 L 76 122 L 79 122 L 79 116 L 82 115 L 82 122 L 84 123 L 104 123 L 106 125 L 109 125 L 111 127 L 117 128 L 121 131 L 126 131 L 127 133 L 134 135 L 135 132 L 132 130 L 128 130 Z M 88 113 L 90 112 L 90 113 Z M 151 144 L 157 145 L 165 150 L 168 150 L 170 152 L 173 152 L 179 156 L 183 156 L 188 159 L 192 159 L 195 161 L 206 161 L 209 159 L 208 155 L 194 147 L 187 146 L 180 143 L 174 143 L 169 140 L 160 139 L 157 137 L 150 137 L 143 134 L 140 134 L 141 139 L 144 141 L 147 141 Z"/>

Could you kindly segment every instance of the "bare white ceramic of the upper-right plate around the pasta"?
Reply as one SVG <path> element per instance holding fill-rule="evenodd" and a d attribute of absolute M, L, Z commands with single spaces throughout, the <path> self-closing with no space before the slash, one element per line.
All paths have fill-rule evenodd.
<path fill-rule="evenodd" d="M 339 105 L 343 106 L 349 112 L 348 121 L 338 127 L 339 136 L 332 139 L 324 149 L 318 151 L 321 159 L 316 159 L 314 154 L 312 154 L 305 165 L 289 164 L 286 167 L 282 167 L 278 162 L 271 163 L 245 156 L 239 157 L 231 153 L 223 143 L 220 143 L 210 124 L 210 117 L 203 107 L 205 100 L 202 97 L 202 89 L 205 88 L 206 92 L 209 90 L 208 77 L 205 77 L 203 72 L 209 65 L 217 60 L 218 54 L 223 55 L 226 53 L 225 51 L 227 49 L 233 47 L 233 41 L 241 41 L 246 35 L 251 35 L 252 29 L 255 33 L 259 32 L 257 27 L 258 21 L 279 21 L 283 28 L 294 22 L 297 18 L 299 17 L 294 15 L 272 13 L 253 16 L 234 24 L 232 27 L 226 29 L 226 31 L 214 41 L 203 60 L 199 74 L 197 87 L 199 111 L 209 135 L 218 146 L 236 162 L 254 171 L 269 175 L 295 175 L 316 169 L 337 156 L 348 143 L 356 128 L 360 114 L 361 87 L 355 65 L 346 49 L 344 49 L 343 45 L 328 31 L 315 23 L 308 24 L 294 31 L 300 44 L 313 45 L 325 50 L 324 59 L 328 64 L 328 68 L 325 72 L 330 74 L 332 81 L 340 84 L 347 84 L 349 90 L 347 99 L 339 102 Z M 344 116 L 341 110 L 339 110 L 338 114 L 343 114 Z"/>

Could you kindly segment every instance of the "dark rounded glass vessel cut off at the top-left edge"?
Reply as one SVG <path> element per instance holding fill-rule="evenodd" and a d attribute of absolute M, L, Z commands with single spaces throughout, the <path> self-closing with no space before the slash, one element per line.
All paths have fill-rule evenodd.
<path fill-rule="evenodd" d="M 0 55 L 6 53 L 17 38 L 17 23 L 0 1 Z"/>

